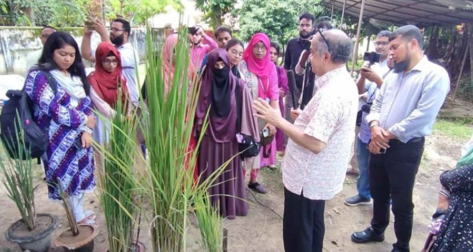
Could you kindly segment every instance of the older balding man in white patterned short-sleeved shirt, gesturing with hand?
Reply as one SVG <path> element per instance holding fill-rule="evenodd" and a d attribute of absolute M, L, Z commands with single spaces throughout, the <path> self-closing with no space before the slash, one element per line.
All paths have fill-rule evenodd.
<path fill-rule="evenodd" d="M 358 97 L 347 71 L 351 39 L 341 30 L 318 31 L 311 43 L 317 91 L 292 125 L 259 99 L 256 117 L 289 136 L 282 163 L 286 252 L 322 252 L 325 201 L 342 190 L 355 139 Z M 296 110 L 292 110 L 293 112 Z"/>

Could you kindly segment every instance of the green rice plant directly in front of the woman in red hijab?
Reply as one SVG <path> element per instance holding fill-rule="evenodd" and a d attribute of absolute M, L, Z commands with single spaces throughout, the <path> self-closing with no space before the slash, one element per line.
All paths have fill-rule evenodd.
<path fill-rule="evenodd" d="M 119 95 L 121 97 L 121 95 Z M 105 146 L 94 143 L 104 154 L 104 170 L 98 171 L 99 201 L 105 215 L 109 252 L 127 252 L 133 249 L 136 215 L 139 211 L 137 198 L 136 159 L 142 158 L 137 151 L 134 116 L 122 112 L 118 103 L 109 142 Z M 105 118 L 103 118 L 106 120 Z"/>

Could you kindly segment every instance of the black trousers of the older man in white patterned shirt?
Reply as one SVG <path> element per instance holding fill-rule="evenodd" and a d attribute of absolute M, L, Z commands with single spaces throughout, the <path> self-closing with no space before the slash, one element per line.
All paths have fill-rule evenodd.
<path fill-rule="evenodd" d="M 309 200 L 284 188 L 282 236 L 285 252 L 322 252 L 325 201 Z"/>

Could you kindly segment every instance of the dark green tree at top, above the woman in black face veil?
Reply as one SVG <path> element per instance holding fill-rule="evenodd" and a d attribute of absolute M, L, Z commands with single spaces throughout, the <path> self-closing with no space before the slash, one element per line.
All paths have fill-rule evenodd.
<path fill-rule="evenodd" d="M 204 13 L 204 21 L 216 29 L 223 24 L 225 17 L 231 16 L 236 0 L 196 0 L 196 7 Z"/>

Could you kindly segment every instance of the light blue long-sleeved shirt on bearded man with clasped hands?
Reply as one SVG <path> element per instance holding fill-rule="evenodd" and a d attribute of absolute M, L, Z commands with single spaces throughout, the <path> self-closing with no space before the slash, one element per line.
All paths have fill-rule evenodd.
<path fill-rule="evenodd" d="M 408 73 L 391 71 L 366 121 L 379 125 L 407 143 L 432 133 L 438 111 L 450 91 L 447 71 L 424 56 Z"/>

